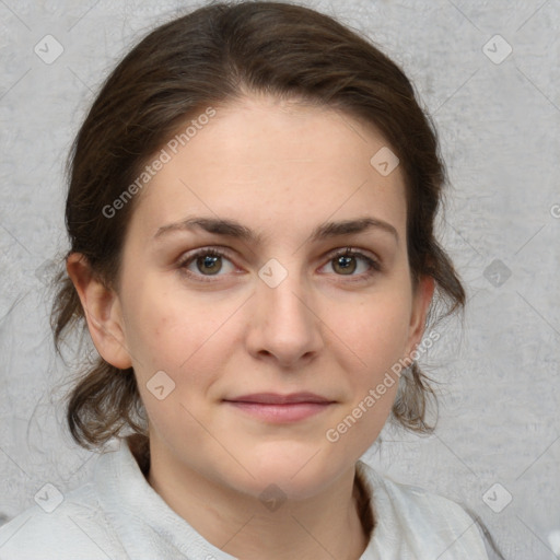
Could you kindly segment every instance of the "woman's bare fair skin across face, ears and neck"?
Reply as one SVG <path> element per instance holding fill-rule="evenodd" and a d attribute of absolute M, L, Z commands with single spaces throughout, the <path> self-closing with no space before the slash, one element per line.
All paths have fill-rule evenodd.
<path fill-rule="evenodd" d="M 244 560 L 264 550 L 272 560 L 350 560 L 366 546 L 354 467 L 397 384 L 336 443 L 325 433 L 415 350 L 434 288 L 424 278 L 412 290 L 404 176 L 370 164 L 384 145 L 372 127 L 334 109 L 248 95 L 217 107 L 137 195 L 118 293 L 80 255 L 68 259 L 100 354 L 135 370 L 150 424 L 148 481 L 210 542 Z M 154 238 L 195 215 L 237 220 L 262 238 L 201 229 Z M 380 228 L 311 238 L 325 221 L 365 217 L 398 238 Z M 213 269 L 203 257 L 180 267 L 206 247 L 228 256 Z M 345 269 L 334 253 L 347 247 L 381 270 L 363 257 Z M 275 288 L 258 275 L 272 258 L 287 272 Z M 161 400 L 147 386 L 159 371 L 175 383 Z M 224 402 L 261 392 L 312 392 L 332 404 L 271 423 Z M 285 499 L 275 511 L 259 499 L 270 485 Z"/>

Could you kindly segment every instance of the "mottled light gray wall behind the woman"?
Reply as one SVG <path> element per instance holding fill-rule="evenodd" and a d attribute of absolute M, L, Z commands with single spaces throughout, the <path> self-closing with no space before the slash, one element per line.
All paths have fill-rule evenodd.
<path fill-rule="evenodd" d="M 94 464 L 95 455 L 63 428 L 59 399 L 72 366 L 54 355 L 45 288 L 51 259 L 67 248 L 70 142 L 131 43 L 177 8 L 200 3 L 0 0 L 0 514 L 7 517 L 32 505 L 47 482 L 62 493 L 83 483 Z M 442 382 L 436 434 L 388 428 L 365 459 L 468 506 L 508 559 L 557 558 L 560 3 L 300 3 L 366 34 L 415 81 L 439 128 L 452 185 L 441 234 L 469 296 L 464 323 L 438 326 L 442 338 L 422 359 Z M 63 47 L 51 63 L 34 52 L 48 34 Z M 501 60 L 508 45 L 513 50 Z"/>

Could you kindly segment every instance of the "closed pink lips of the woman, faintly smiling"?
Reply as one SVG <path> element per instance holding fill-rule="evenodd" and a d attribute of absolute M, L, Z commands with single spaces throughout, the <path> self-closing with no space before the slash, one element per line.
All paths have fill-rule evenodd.
<path fill-rule="evenodd" d="M 258 393 L 224 399 L 223 402 L 259 420 L 285 423 L 298 422 L 318 415 L 335 405 L 336 401 L 314 393 L 292 393 L 290 395 Z"/>

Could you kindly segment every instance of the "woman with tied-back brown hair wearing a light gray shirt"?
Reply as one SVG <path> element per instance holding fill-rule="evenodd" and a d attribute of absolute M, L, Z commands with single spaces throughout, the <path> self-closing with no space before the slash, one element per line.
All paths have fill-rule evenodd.
<path fill-rule="evenodd" d="M 220 3 L 153 31 L 75 139 L 52 315 L 100 354 L 73 438 L 120 446 L 0 557 L 486 559 L 460 506 L 360 462 L 389 416 L 431 430 L 416 359 L 465 301 L 443 183 L 408 79 L 326 15 Z"/>

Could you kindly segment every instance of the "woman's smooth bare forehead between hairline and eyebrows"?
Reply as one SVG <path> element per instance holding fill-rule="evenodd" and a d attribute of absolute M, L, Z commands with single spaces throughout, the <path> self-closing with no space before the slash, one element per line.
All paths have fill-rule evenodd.
<path fill-rule="evenodd" d="M 188 120 L 179 135 L 198 126 L 159 152 L 166 163 L 140 192 L 132 217 L 131 228 L 144 238 L 201 213 L 261 231 L 275 225 L 285 235 L 368 211 L 404 226 L 404 176 L 398 165 L 380 173 L 376 154 L 390 152 L 374 127 L 338 110 L 267 96 L 214 110 L 211 119 Z"/>

